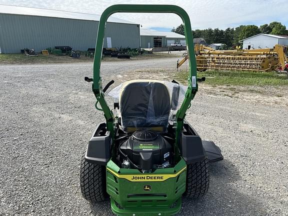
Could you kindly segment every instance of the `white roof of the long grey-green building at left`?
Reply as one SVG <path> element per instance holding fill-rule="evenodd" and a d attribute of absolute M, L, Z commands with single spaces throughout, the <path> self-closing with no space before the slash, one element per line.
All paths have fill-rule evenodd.
<path fill-rule="evenodd" d="M 12 6 L 12 5 L 5 5 L 5 4 L 0 4 L 0 13 L 94 20 L 94 21 L 99 21 L 100 19 L 100 15 L 91 14 L 91 13 L 69 12 L 69 11 L 63 11 L 63 10 L 42 9 L 42 8 L 24 7 L 24 6 Z M 134 22 L 115 18 L 112 16 L 110 16 L 107 21 L 117 22 L 117 23 L 135 24 Z"/>

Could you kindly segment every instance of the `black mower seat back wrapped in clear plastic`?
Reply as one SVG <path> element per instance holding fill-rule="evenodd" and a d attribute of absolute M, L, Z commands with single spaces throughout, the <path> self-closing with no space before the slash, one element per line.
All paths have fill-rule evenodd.
<path fill-rule="evenodd" d="M 119 95 L 123 129 L 165 128 L 170 113 L 170 95 L 165 84 L 157 80 L 134 81 Z"/>

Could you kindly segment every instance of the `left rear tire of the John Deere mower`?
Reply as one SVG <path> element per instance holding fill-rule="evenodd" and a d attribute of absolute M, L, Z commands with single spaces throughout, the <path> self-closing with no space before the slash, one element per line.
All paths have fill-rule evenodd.
<path fill-rule="evenodd" d="M 92 202 L 104 201 L 108 198 L 106 192 L 105 166 L 90 163 L 83 153 L 80 165 L 80 187 L 82 196 Z"/>

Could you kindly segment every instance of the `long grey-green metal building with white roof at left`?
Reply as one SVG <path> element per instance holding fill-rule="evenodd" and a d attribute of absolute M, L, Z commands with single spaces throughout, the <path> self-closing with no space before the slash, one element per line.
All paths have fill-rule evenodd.
<path fill-rule="evenodd" d="M 0 53 L 54 46 L 94 48 L 100 15 L 0 5 Z M 103 47 L 140 47 L 139 24 L 109 17 Z"/>

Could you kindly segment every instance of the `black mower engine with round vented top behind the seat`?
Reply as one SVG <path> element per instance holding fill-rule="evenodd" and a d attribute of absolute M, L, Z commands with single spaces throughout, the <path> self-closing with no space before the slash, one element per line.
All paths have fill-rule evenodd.
<path fill-rule="evenodd" d="M 152 168 L 170 166 L 171 145 L 159 133 L 150 130 L 136 130 L 129 138 L 120 143 L 122 168 L 129 168 L 132 163 L 143 172 Z"/>

